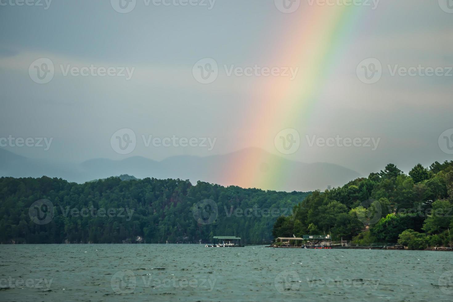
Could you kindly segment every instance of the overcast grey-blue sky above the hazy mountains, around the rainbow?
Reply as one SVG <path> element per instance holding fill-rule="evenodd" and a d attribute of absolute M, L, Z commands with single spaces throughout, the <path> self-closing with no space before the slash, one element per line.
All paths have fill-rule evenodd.
<path fill-rule="evenodd" d="M 250 137 L 256 125 L 246 122 L 261 112 L 255 107 L 265 106 L 260 104 L 256 87 L 288 78 L 228 77 L 223 65 L 278 66 L 272 54 L 281 36 L 291 41 L 301 38 L 300 29 L 288 25 L 300 24 L 297 19 L 306 18 L 310 10 L 319 12 L 319 7 L 308 5 L 310 1 L 302 0 L 290 14 L 280 11 L 274 0 L 206 0 L 206 6 L 174 4 L 181 0 L 157 6 L 152 0 L 149 5 L 136 0 L 128 13 L 115 0 L 53 0 L 50 5 L 44 0 L 29 1 L 43 6 L 0 0 L 0 138 L 53 140 L 48 150 L 2 147 L 14 153 L 82 162 L 137 155 L 156 160 L 180 154 L 208 156 L 257 147 L 301 162 L 337 163 L 365 175 L 390 162 L 407 170 L 416 163 L 426 166 L 453 159 L 448 149 L 453 140 L 443 138 L 453 135 L 448 130 L 453 129 L 453 9 L 446 6 L 447 0 L 381 0 L 374 10 L 354 8 L 358 17 L 349 24 L 349 34 L 332 44 L 341 45 L 338 53 L 332 50 L 334 62 L 320 64 L 326 68 L 320 71 L 326 74 L 321 78 L 328 82 L 315 84 L 322 90 L 309 108 L 294 106 L 291 114 L 300 114 L 299 121 L 290 125 L 269 121 L 260 139 Z M 201 0 L 193 1 L 200 4 Z M 310 25 L 317 34 L 318 24 Z M 40 84 L 48 78 L 33 75 L 35 66 L 49 67 L 41 58 L 51 60 L 54 74 Z M 218 63 L 213 83 L 202 84 L 194 76 L 198 69 L 194 65 L 203 58 Z M 382 76 L 375 83 L 365 83 L 360 76 L 358 65 L 367 58 L 377 58 L 382 64 Z M 299 64 L 309 60 L 300 58 L 285 66 L 303 73 L 305 66 Z M 371 68 L 370 62 L 366 64 Z M 86 69 L 88 76 L 75 76 L 67 69 L 69 65 L 114 67 L 112 74 L 125 76 L 100 77 L 102 70 L 93 74 Z M 431 77 L 420 76 L 418 70 L 415 76 L 398 72 L 391 76 L 388 65 L 442 70 Z M 283 98 L 284 94 L 281 104 L 285 106 Z M 112 148 L 111 139 L 124 128 L 134 131 L 136 146 L 120 154 Z M 285 128 L 296 129 L 300 136 L 299 148 L 289 154 L 282 154 L 274 141 Z M 120 131 L 113 140 L 127 138 L 124 134 Z M 142 134 L 147 139 L 149 135 L 160 139 L 174 135 L 216 140 L 213 148 L 209 144 L 205 148 L 153 143 L 146 147 Z M 287 134 L 283 136 L 288 138 Z M 310 139 L 313 135 L 374 138 L 379 143 L 376 150 L 372 143 L 370 148 L 345 148 L 337 143 L 310 147 L 306 135 Z"/>

